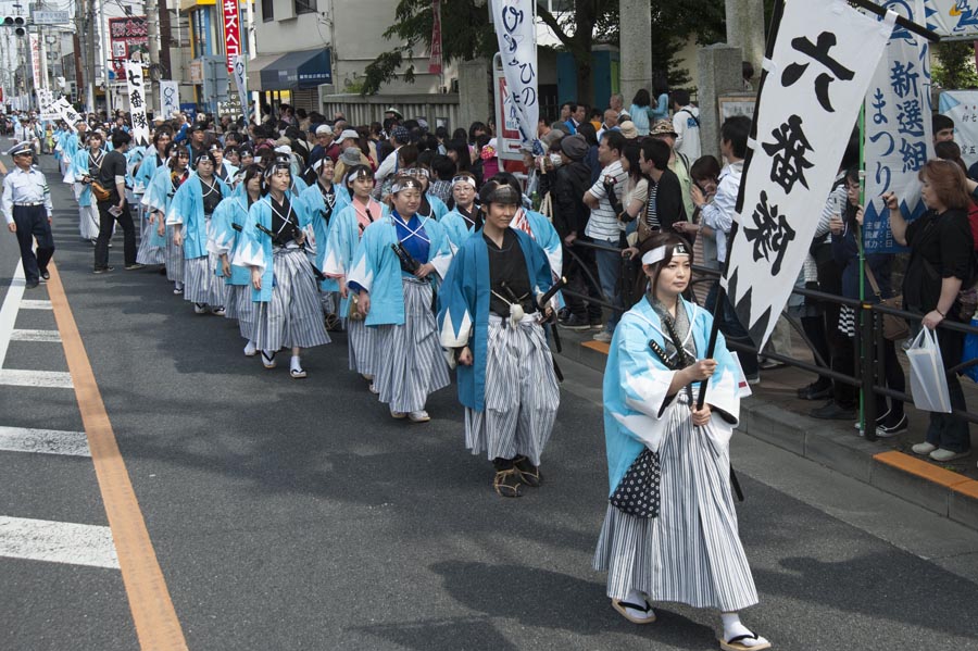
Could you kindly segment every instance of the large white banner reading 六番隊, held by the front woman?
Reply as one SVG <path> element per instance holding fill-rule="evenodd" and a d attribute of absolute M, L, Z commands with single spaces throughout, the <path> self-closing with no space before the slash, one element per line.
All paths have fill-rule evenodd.
<path fill-rule="evenodd" d="M 774 330 L 896 15 L 787 2 L 765 60 L 725 284 L 758 350 Z M 754 289 L 757 289 L 754 292 Z"/>

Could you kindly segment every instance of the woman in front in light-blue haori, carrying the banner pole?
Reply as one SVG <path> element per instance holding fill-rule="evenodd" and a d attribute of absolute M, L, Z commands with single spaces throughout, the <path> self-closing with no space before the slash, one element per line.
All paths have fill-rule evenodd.
<path fill-rule="evenodd" d="M 645 296 L 615 328 L 604 373 L 611 497 L 594 569 L 607 572 L 613 608 L 635 624 L 655 621 L 651 602 L 686 603 L 719 611 L 723 649 L 767 649 L 738 616 L 757 603 L 730 491 L 740 372 L 722 335 L 704 359 L 713 318 L 681 296 L 692 247 L 662 234 L 645 249 Z"/>

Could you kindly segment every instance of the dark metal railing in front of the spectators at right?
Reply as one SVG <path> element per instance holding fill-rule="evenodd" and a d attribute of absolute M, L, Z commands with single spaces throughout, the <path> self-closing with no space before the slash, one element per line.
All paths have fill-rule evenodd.
<path fill-rule="evenodd" d="M 605 250 L 605 251 L 616 251 L 619 254 L 622 253 L 622 249 L 618 247 L 612 247 L 604 243 L 592 242 L 592 241 L 582 241 L 576 240 L 575 245 L 586 247 L 594 250 Z M 613 297 L 607 297 L 601 292 L 601 284 L 594 278 L 591 268 L 589 265 L 585 263 L 580 256 L 573 251 L 570 247 L 564 248 L 565 255 L 569 256 L 572 262 L 579 264 L 585 272 L 585 278 L 590 281 L 594 287 L 597 287 L 599 293 L 604 296 L 603 300 L 595 300 L 590 298 L 586 293 L 580 293 L 574 291 L 573 289 L 564 289 L 563 292 L 573 297 L 577 297 L 584 299 L 586 301 L 591 301 L 600 304 L 602 308 L 606 308 L 609 310 L 614 310 L 616 312 L 624 312 L 625 309 L 616 304 L 614 302 Z M 622 263 L 622 273 L 619 277 L 627 277 L 625 272 L 627 265 L 629 264 L 628 259 L 623 258 Z M 693 272 L 699 274 L 700 277 L 693 279 L 693 283 L 703 283 L 703 281 L 713 281 L 719 277 L 719 272 L 716 270 L 711 270 L 703 266 L 693 265 Z M 794 358 L 790 358 L 788 355 L 782 355 L 779 353 L 765 352 L 764 356 L 776 362 L 780 362 L 782 364 L 788 364 L 790 366 L 795 366 L 798 368 L 802 368 L 804 371 L 810 371 L 812 373 L 816 373 L 820 376 L 828 377 L 832 381 L 843 383 L 853 387 L 857 387 L 860 389 L 860 396 L 863 403 L 863 422 L 864 424 L 875 423 L 876 422 L 876 401 L 868 399 L 870 396 L 885 396 L 887 398 L 892 398 L 895 400 L 901 400 L 903 402 L 908 402 L 913 404 L 913 398 L 904 392 L 904 391 L 895 391 L 893 389 L 888 388 L 885 385 L 879 384 L 880 378 L 886 377 L 886 356 L 883 355 L 883 329 L 882 329 L 882 316 L 885 314 L 892 314 L 894 316 L 899 316 L 908 322 L 919 322 L 923 318 L 923 314 L 917 314 L 915 312 L 907 312 L 905 310 L 898 310 L 894 308 L 889 308 L 887 305 L 874 304 L 864 301 L 860 301 L 857 299 L 848 299 L 841 296 L 836 296 L 832 293 L 825 293 L 823 291 L 817 291 L 814 289 L 805 289 L 801 287 L 795 287 L 793 293 L 802 296 L 806 299 L 814 299 L 825 303 L 836 303 L 839 305 L 848 305 L 855 310 L 856 312 L 856 324 L 857 327 L 855 329 L 855 350 L 857 351 L 857 355 L 855 355 L 855 371 L 853 375 L 845 375 L 844 373 L 840 373 L 838 371 L 832 371 L 829 366 L 828 360 L 822 360 L 818 355 L 818 351 L 812 345 L 812 341 L 808 339 L 807 335 L 805 335 L 804 329 L 797 318 L 793 316 L 785 314 L 788 318 L 788 322 L 791 324 L 792 328 L 801 335 L 802 340 L 808 347 L 808 350 L 812 351 L 813 356 L 815 358 L 815 363 L 806 362 L 803 360 L 797 360 Z M 921 326 L 923 327 L 923 326 Z M 978 327 L 955 322 L 953 320 L 944 320 L 938 326 L 939 328 L 950 329 L 958 333 L 974 334 L 978 335 Z M 739 343 L 737 341 L 732 341 L 730 339 L 727 340 L 727 348 L 730 350 L 745 353 L 745 354 L 760 354 L 760 351 L 756 347 L 747 346 L 743 343 Z M 964 371 L 967 367 L 978 365 L 978 359 L 969 360 L 967 362 L 963 362 L 956 364 L 948 370 L 948 375 L 952 373 L 958 373 Z M 965 418 L 969 423 L 978 423 L 978 414 L 973 413 L 970 411 L 961 411 L 954 409 L 952 411 L 954 415 L 961 416 Z M 864 427 L 864 434 L 866 440 L 875 441 L 876 437 L 876 427 L 867 426 Z"/>

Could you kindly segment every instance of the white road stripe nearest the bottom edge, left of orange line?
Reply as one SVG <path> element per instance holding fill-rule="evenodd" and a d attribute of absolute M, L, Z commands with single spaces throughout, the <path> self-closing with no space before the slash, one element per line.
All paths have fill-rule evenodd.
<path fill-rule="evenodd" d="M 0 556 L 118 569 L 109 527 L 0 515 Z"/>

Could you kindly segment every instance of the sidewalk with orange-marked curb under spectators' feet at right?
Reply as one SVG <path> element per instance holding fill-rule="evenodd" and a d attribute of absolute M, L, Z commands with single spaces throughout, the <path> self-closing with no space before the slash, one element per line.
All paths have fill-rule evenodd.
<path fill-rule="evenodd" d="M 563 355 L 604 371 L 607 345 L 592 341 L 591 336 L 561 329 Z M 906 371 L 906 358 L 899 354 Z M 793 356 L 812 359 L 798 346 Z M 751 387 L 753 396 L 741 405 L 739 430 L 978 530 L 978 437 L 974 429 L 971 449 L 976 453 L 938 464 L 911 452 L 911 446 L 924 440 L 926 412 L 907 404 L 907 431 L 869 442 L 853 422 L 808 415 L 824 402 L 799 400 L 795 390 L 813 379 L 813 374 L 791 366 L 762 371 L 761 384 Z M 963 378 L 962 385 L 968 404 L 978 405 L 978 385 L 969 378 Z"/>

